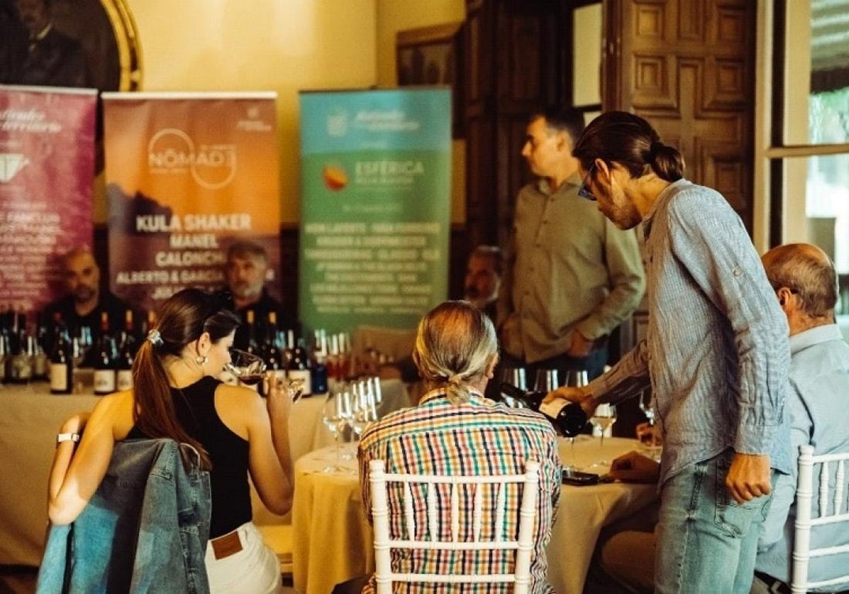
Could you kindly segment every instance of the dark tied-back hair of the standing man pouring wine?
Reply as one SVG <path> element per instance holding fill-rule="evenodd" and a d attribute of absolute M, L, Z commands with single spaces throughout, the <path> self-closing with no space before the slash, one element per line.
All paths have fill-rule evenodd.
<path fill-rule="evenodd" d="M 596 159 L 616 162 L 631 177 L 654 172 L 667 182 L 684 177 L 684 158 L 677 148 L 661 142 L 648 121 L 627 111 L 607 111 L 591 121 L 572 150 L 588 170 Z"/>

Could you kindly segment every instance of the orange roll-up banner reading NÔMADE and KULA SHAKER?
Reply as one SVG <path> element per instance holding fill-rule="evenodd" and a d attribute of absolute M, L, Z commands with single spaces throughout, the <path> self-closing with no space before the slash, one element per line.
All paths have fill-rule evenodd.
<path fill-rule="evenodd" d="M 104 93 L 110 288 L 144 309 L 219 288 L 228 245 L 268 256 L 279 297 L 275 92 Z"/>

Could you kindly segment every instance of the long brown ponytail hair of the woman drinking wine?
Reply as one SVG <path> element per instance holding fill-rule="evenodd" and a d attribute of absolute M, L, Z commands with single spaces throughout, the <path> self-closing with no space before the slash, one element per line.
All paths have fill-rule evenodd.
<path fill-rule="evenodd" d="M 201 468 L 211 468 L 209 453 L 190 437 L 177 419 L 171 401 L 171 384 L 163 358 L 180 356 L 186 345 L 208 332 L 213 343 L 239 326 L 239 318 L 211 294 L 200 289 L 183 289 L 161 306 L 159 322 L 132 362 L 133 420 L 150 437 L 170 437 L 187 443 L 200 453 Z"/>

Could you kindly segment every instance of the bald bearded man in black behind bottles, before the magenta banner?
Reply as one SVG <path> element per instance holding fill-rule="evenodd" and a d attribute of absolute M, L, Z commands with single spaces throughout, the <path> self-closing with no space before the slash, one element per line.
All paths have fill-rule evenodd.
<path fill-rule="evenodd" d="M 44 321 L 48 325 L 48 340 L 53 339 L 56 314 L 61 317 L 70 336 L 79 336 L 80 328 L 87 327 L 92 332 L 93 344 L 100 337 L 100 314 L 109 314 L 110 334 L 117 340 L 124 329 L 127 310 L 133 311 L 134 330 L 143 322 L 142 314 L 132 308 L 127 301 L 116 297 L 100 287 L 100 266 L 87 248 L 71 249 L 62 259 L 65 275 L 65 296 L 44 307 Z M 93 349 L 89 353 L 94 356 Z M 87 357 L 84 366 L 91 363 Z"/>

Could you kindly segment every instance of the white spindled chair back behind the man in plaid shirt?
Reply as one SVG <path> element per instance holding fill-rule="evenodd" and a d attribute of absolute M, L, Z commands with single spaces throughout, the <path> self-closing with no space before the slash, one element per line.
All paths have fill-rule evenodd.
<path fill-rule="evenodd" d="M 385 473 L 384 461 L 373 460 L 369 464 L 369 483 L 374 521 L 374 576 L 378 594 L 390 594 L 392 582 L 396 581 L 485 586 L 512 582 L 515 594 L 526 594 L 531 581 L 534 553 L 539 462 L 527 462 L 524 474 L 435 476 Z M 396 538 L 392 537 L 390 530 L 389 493 L 392 483 L 400 484 L 400 489 L 396 488 L 393 492 L 402 494 L 402 501 L 395 502 L 393 506 L 403 513 L 400 518 L 403 534 Z M 508 491 L 511 488 L 520 488 L 521 496 L 510 497 Z M 437 493 L 440 489 L 442 496 L 447 490 L 447 502 L 450 502 L 448 509 L 441 505 L 442 496 Z M 414 497 L 414 491 L 420 495 Z M 421 508 L 421 496 L 425 500 L 426 520 L 424 525 L 417 527 L 415 509 Z M 509 501 L 516 502 L 516 507 L 509 508 Z M 470 513 L 461 513 L 461 510 Z M 505 534 L 509 526 L 516 524 L 510 515 L 516 513 L 519 514 L 516 530 L 509 530 L 510 534 Z M 470 530 L 469 526 L 461 528 L 461 516 L 470 516 Z M 446 519 L 448 526 L 444 525 Z M 485 526 L 485 522 L 488 525 Z M 441 540 L 441 535 L 447 535 L 447 539 Z M 482 540 L 483 535 L 488 538 Z M 482 574 L 480 570 L 475 570 L 474 573 L 463 573 L 462 568 L 447 567 L 445 574 L 410 574 L 393 571 L 392 549 L 419 552 L 472 551 L 478 554 L 513 550 L 515 555 L 512 572 Z"/>

